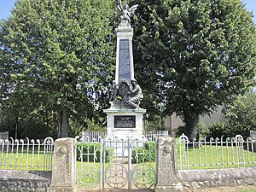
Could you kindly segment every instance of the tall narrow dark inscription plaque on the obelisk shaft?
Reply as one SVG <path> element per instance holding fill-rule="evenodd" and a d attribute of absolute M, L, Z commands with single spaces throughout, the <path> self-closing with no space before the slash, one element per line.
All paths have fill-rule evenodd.
<path fill-rule="evenodd" d="M 122 79 L 131 80 L 129 39 L 119 40 L 119 81 Z"/>

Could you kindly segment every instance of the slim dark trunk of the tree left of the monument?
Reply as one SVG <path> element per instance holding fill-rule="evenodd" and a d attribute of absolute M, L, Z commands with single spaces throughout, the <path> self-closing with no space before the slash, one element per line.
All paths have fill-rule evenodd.
<path fill-rule="evenodd" d="M 59 112 L 58 138 L 67 137 L 68 133 L 68 112 L 66 110 Z"/>

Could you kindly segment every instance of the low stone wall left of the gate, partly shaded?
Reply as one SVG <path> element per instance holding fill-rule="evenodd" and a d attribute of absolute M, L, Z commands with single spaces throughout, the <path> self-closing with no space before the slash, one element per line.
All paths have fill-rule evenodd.
<path fill-rule="evenodd" d="M 0 170 L 1 192 L 46 192 L 51 180 L 48 171 Z"/>

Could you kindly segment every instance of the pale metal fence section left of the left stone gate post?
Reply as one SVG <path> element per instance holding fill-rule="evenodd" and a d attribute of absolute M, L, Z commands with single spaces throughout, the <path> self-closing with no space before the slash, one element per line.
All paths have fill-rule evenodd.
<path fill-rule="evenodd" d="M 51 170 L 54 139 L 0 139 L 0 169 Z"/>

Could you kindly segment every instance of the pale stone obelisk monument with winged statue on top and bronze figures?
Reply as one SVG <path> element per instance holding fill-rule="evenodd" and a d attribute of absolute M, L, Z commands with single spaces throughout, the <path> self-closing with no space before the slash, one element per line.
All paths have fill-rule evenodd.
<path fill-rule="evenodd" d="M 117 50 L 115 80 L 111 85 L 113 96 L 111 108 L 105 109 L 108 114 L 108 137 L 142 137 L 143 136 L 143 113 L 140 108 L 143 99 L 143 90 L 134 79 L 131 15 L 134 14 L 138 5 L 131 8 L 127 4 L 122 6 L 119 2 L 120 22 L 116 29 Z"/>

